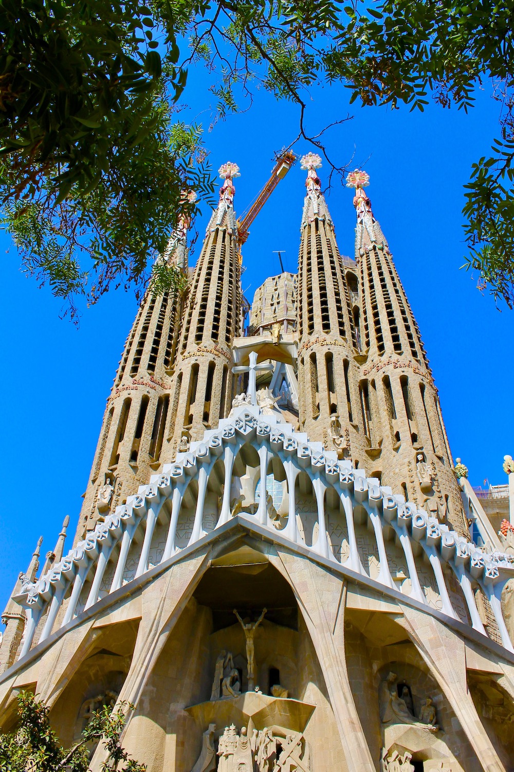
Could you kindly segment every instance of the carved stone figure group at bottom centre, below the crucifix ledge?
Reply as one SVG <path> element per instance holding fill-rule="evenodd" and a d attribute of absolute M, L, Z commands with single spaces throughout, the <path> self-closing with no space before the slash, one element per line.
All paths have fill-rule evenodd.
<path fill-rule="evenodd" d="M 215 747 L 216 724 L 203 733 L 200 757 L 191 772 L 311 772 L 311 750 L 303 734 L 280 726 L 256 730 L 226 726 Z"/>

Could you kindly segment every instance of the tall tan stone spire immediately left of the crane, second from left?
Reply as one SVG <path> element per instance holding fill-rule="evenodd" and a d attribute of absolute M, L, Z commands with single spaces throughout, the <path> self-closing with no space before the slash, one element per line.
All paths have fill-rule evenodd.
<path fill-rule="evenodd" d="M 217 426 L 232 402 L 233 339 L 242 324 L 240 248 L 233 210 L 239 168 L 219 170 L 223 185 L 183 309 L 173 398 L 166 426 L 166 458 Z"/>

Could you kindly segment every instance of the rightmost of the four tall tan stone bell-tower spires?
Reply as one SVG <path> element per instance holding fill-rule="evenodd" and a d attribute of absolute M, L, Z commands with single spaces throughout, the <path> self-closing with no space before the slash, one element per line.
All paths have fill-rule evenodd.
<path fill-rule="evenodd" d="M 468 535 L 438 393 L 412 309 L 364 188 L 365 171 L 348 174 L 357 212 L 363 363 L 361 422 L 377 475 L 398 482 L 408 499 Z"/>

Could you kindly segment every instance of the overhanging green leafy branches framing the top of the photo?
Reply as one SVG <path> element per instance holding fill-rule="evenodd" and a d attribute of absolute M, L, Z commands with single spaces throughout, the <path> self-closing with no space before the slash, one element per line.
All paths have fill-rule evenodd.
<path fill-rule="evenodd" d="M 465 185 L 466 265 L 512 307 L 512 19 L 514 0 L 0 0 L 6 225 L 55 294 L 143 283 L 196 212 L 184 193 L 213 193 L 201 129 L 177 112 L 191 67 L 212 73 L 218 117 L 251 109 L 257 88 L 296 103 L 291 147 L 311 141 L 341 178 L 328 127 L 307 130 L 314 109 L 320 120 L 311 86 L 340 82 L 364 106 L 465 111 L 485 86 L 499 136 Z"/>

